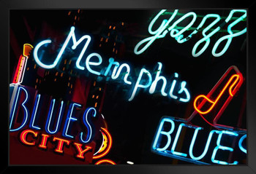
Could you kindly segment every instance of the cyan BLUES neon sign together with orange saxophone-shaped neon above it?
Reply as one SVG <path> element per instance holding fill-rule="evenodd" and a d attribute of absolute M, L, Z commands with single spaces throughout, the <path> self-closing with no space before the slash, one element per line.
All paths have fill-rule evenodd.
<path fill-rule="evenodd" d="M 208 95 L 198 95 L 194 100 L 195 111 L 188 119 L 177 119 L 171 116 L 163 116 L 159 122 L 157 133 L 152 144 L 152 151 L 167 157 L 181 159 L 195 164 L 219 164 L 219 165 L 238 165 L 238 160 L 219 156 L 220 153 L 230 154 L 233 151 L 246 159 L 246 130 L 217 124 L 217 120 L 238 92 L 243 83 L 243 76 L 236 66 L 231 66 L 225 74 L 208 93 Z M 222 87 L 222 84 L 224 84 Z M 222 87 L 222 88 L 221 88 Z M 213 98 L 212 96 L 217 96 Z M 222 101 L 220 101 L 222 99 Z M 215 111 L 213 111 L 215 110 Z M 204 127 L 193 125 L 192 119 L 199 114 L 204 121 L 217 130 L 204 130 Z M 203 116 L 204 115 L 204 116 Z M 212 121 L 209 121 L 212 120 Z M 181 141 L 181 131 L 186 131 L 189 136 L 185 142 L 187 146 L 176 148 L 178 141 Z M 196 143 L 200 135 L 207 135 L 205 143 Z M 224 142 L 225 139 L 225 143 Z M 186 142 L 187 141 L 187 142 Z M 197 145 L 195 145 L 195 143 Z M 234 145 L 233 143 L 236 143 Z M 228 145 L 227 145 L 228 144 Z M 199 149 L 195 155 L 195 148 Z M 201 150 L 203 149 L 203 151 Z M 222 159 L 220 158 L 222 157 Z M 225 156 L 224 156 L 225 157 Z"/>

